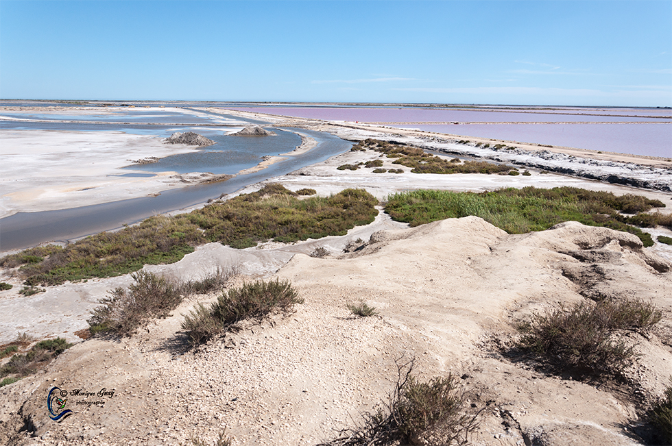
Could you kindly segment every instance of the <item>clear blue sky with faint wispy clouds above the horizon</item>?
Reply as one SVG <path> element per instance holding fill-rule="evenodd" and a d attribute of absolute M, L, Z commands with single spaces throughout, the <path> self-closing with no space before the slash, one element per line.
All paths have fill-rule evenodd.
<path fill-rule="evenodd" d="M 672 1 L 0 1 L 0 97 L 672 106 Z"/>

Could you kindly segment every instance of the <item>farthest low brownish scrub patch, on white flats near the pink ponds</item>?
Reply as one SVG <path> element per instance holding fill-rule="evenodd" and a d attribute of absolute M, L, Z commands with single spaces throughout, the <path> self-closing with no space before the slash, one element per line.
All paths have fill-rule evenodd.
<path fill-rule="evenodd" d="M 360 141 L 355 147 L 372 149 L 384 153 L 387 158 L 396 158 L 392 164 L 410 167 L 413 173 L 499 173 L 511 169 L 492 162 L 465 161 L 464 163 L 456 163 L 453 160 L 426 153 L 418 147 L 396 145 L 374 139 Z M 383 165 L 382 161 L 380 165 Z M 369 167 L 368 164 L 365 166 Z M 338 169 L 341 169 L 341 167 L 343 166 Z"/>

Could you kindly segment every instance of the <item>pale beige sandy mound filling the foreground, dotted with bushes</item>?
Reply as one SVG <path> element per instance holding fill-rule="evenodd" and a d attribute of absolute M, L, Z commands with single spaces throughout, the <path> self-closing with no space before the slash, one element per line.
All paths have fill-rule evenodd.
<path fill-rule="evenodd" d="M 211 262 L 205 249 L 197 253 L 212 265 L 221 249 L 210 251 Z M 294 256 L 277 276 L 305 299 L 296 313 L 197 351 L 182 354 L 179 332 L 180 314 L 195 301 L 133 338 L 75 345 L 45 373 L 0 390 L 0 443 L 174 445 L 192 435 L 212 442 L 226 428 L 234 445 L 314 445 L 384 399 L 394 359 L 405 354 L 423 379 L 452 372 L 475 392 L 472 402 L 486 407 L 475 445 L 633 444 L 623 429 L 635 417 L 632 404 L 606 387 L 512 364 L 496 349 L 531 311 L 580 301 L 579 291 L 594 286 L 662 309 L 651 336 L 626 335 L 641 355 L 627 373 L 644 395 L 667 384 L 671 264 L 631 234 L 562 223 L 507 235 L 472 216 L 376 232 L 347 257 Z M 344 305 L 358 299 L 379 317 L 353 319 Z M 116 393 L 103 408 L 73 406 L 57 424 L 45 409 L 51 386 Z M 35 436 L 17 433 L 23 426 Z"/>

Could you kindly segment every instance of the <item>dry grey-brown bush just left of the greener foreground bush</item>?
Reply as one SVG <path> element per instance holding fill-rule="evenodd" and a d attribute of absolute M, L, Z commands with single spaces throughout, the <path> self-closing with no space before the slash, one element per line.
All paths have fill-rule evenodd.
<path fill-rule="evenodd" d="M 149 318 L 167 317 L 182 302 L 180 286 L 166 277 L 138 271 L 132 274 L 134 284 L 116 288 L 99 301 L 87 320 L 92 334 L 110 332 L 130 336 Z"/>

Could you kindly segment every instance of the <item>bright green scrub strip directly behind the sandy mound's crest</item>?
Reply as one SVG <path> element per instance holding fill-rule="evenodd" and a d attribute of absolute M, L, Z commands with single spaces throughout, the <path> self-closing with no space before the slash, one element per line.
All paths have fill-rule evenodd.
<path fill-rule="evenodd" d="M 525 234 L 547 230 L 563 221 L 578 221 L 584 225 L 610 227 L 635 234 L 644 246 L 653 245 L 649 234 L 632 226 L 643 215 L 623 215 L 625 210 L 643 212 L 663 207 L 658 200 L 636 195 L 616 195 L 579 188 L 500 189 L 485 193 L 455 193 L 446 190 L 415 190 L 388 197 L 385 212 L 397 221 L 422 225 L 431 221 L 479 216 L 509 234 Z M 661 215 L 662 214 L 658 214 Z M 660 222 L 667 224 L 662 219 Z"/>

